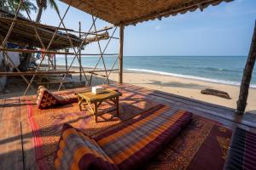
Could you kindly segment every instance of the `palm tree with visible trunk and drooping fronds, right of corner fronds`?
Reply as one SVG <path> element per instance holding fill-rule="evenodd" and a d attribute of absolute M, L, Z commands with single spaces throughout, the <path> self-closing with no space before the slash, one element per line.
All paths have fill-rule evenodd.
<path fill-rule="evenodd" d="M 54 8 L 57 12 L 59 12 L 59 8 L 55 3 L 55 0 L 37 0 L 38 14 L 37 14 L 36 22 L 40 22 L 43 9 L 46 9 L 48 4 L 50 8 Z"/>

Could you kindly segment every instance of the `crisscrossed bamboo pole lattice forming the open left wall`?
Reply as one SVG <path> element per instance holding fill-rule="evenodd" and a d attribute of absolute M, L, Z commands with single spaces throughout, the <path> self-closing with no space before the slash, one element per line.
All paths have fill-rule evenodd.
<path fill-rule="evenodd" d="M 70 2 L 72 3 L 72 0 L 70 0 Z M 91 84 L 91 77 L 92 75 L 97 75 L 97 76 L 100 76 L 100 77 L 105 77 L 105 81 L 104 83 L 106 82 L 106 80 L 108 81 L 109 83 L 109 80 L 108 80 L 108 76 L 110 75 L 111 71 L 117 71 L 117 69 L 113 69 L 113 66 L 115 65 L 116 63 L 116 60 L 112 66 L 111 69 L 107 69 L 106 67 L 106 64 L 105 64 L 105 61 L 104 61 L 104 58 L 103 56 L 116 56 L 118 54 L 105 54 L 105 51 L 106 51 L 106 48 L 108 48 L 108 44 L 109 42 L 111 41 L 111 39 L 119 39 L 119 37 L 113 37 L 113 34 L 114 32 L 116 31 L 117 27 L 116 26 L 106 26 L 106 27 L 103 27 L 102 29 L 99 29 L 97 30 L 96 29 L 96 20 L 97 18 L 95 18 L 94 16 L 92 16 L 92 24 L 90 26 L 90 29 L 89 31 L 85 32 L 85 31 L 81 31 L 81 28 L 79 26 L 79 34 L 80 34 L 80 38 L 82 37 L 81 36 L 81 33 L 84 33 L 85 37 L 82 39 L 82 42 L 80 44 L 79 47 L 75 48 L 74 45 L 73 45 L 73 37 L 70 37 L 69 34 L 68 34 L 68 31 L 73 31 L 72 29 L 67 29 L 63 20 L 65 19 L 65 17 L 67 16 L 67 11 L 69 10 L 70 6 L 71 6 L 71 3 L 68 5 L 65 13 L 63 14 L 63 16 L 61 16 L 58 12 L 58 16 L 59 16 L 59 19 L 60 19 L 60 23 L 59 25 L 56 27 L 56 26 L 45 26 L 45 25 L 41 25 L 41 24 L 38 24 L 36 22 L 33 22 L 32 19 L 31 19 L 31 16 L 30 14 L 28 14 L 27 12 L 27 9 L 24 5 L 24 2 L 23 0 L 20 0 L 20 4 L 19 4 L 19 7 L 17 8 L 16 10 L 16 13 L 15 13 L 15 17 L 14 19 L 3 19 L 3 20 L 8 20 L 9 22 L 12 23 L 12 25 L 9 27 L 9 31 L 8 31 L 8 34 L 7 36 L 4 38 L 3 40 L 3 44 L 5 44 L 8 39 L 9 39 L 9 36 L 11 35 L 11 32 L 13 31 L 14 29 L 14 26 L 15 26 L 15 23 L 21 23 L 21 25 L 26 25 L 26 26 L 32 26 L 33 30 L 35 31 L 35 36 L 36 38 L 38 39 L 38 42 L 39 44 L 41 44 L 42 48 L 44 48 L 43 51 L 41 50 L 32 50 L 32 49 L 15 49 L 15 48 L 5 48 L 4 45 L 2 45 L 0 47 L 0 51 L 3 51 L 3 54 L 6 55 L 7 59 L 10 60 L 10 62 L 14 65 L 14 62 L 11 60 L 11 58 L 9 57 L 9 55 L 7 54 L 7 52 L 11 51 L 11 52 L 19 52 L 19 53 L 41 53 L 41 54 L 45 54 L 42 56 L 42 58 L 40 59 L 40 62 L 39 62 L 39 65 L 37 66 L 36 70 L 35 71 L 26 71 L 26 72 L 21 72 L 15 65 L 15 68 L 18 72 L 0 72 L 0 76 L 8 76 L 8 77 L 14 77 L 14 76 L 20 76 L 24 79 L 24 81 L 27 83 L 27 87 L 26 87 L 26 90 L 24 92 L 24 95 L 26 95 L 26 92 L 29 88 L 32 88 L 35 92 L 35 88 L 32 87 L 32 82 L 34 81 L 35 77 L 36 76 L 39 76 L 39 75 L 56 75 L 56 74 L 64 74 L 64 77 L 62 78 L 61 82 L 60 82 L 60 87 L 58 90 L 60 90 L 61 86 L 62 86 L 62 83 L 64 82 L 65 78 L 67 77 L 67 74 L 69 73 L 72 73 L 72 74 L 80 74 L 83 73 L 84 74 L 84 77 L 85 77 L 85 86 L 87 84 Z M 18 20 L 17 19 L 17 14 L 20 10 L 20 6 L 23 5 L 23 7 L 25 8 L 26 10 L 26 14 L 28 16 L 28 19 L 29 20 Z M 62 27 L 61 27 L 62 26 Z M 114 29 L 113 31 L 113 34 L 111 37 L 108 36 L 108 43 L 106 45 L 106 47 L 104 48 L 104 50 L 102 51 L 102 46 L 100 44 L 100 32 L 102 31 L 108 31 L 110 29 Z M 52 37 L 50 38 L 50 41 L 48 44 L 44 44 L 43 42 L 43 39 L 40 37 L 40 34 L 38 32 L 38 29 L 41 29 L 41 28 L 48 28 L 48 29 L 52 29 L 52 30 L 55 30 L 54 34 L 52 35 Z M 92 29 L 94 29 L 94 31 L 91 31 Z M 71 45 L 71 48 L 73 48 L 73 53 L 67 53 L 66 51 L 65 52 L 56 52 L 56 51 L 51 51 L 49 50 L 51 45 L 54 43 L 54 39 L 55 39 L 55 36 L 57 35 L 57 32 L 58 30 L 63 30 L 63 31 L 66 31 L 66 37 L 68 39 L 68 42 L 70 43 Z M 73 31 L 73 32 L 77 32 L 77 31 Z M 83 36 L 84 36 L 83 35 Z M 89 36 L 89 35 L 95 35 L 96 36 L 96 43 L 97 43 L 97 46 L 99 48 L 99 51 L 100 51 L 100 54 L 81 54 L 81 48 L 84 46 L 84 48 L 86 47 L 87 44 L 84 44 L 84 42 L 86 41 L 86 38 Z M 47 46 L 45 46 L 47 45 Z M 65 54 L 65 59 L 66 59 L 66 71 L 39 71 L 39 68 L 41 67 L 45 57 L 47 56 L 49 58 L 49 62 L 50 64 L 52 65 L 53 68 L 55 68 L 55 64 L 53 63 L 53 60 L 50 59 L 50 55 L 49 54 Z M 73 60 L 72 60 L 72 63 L 68 66 L 67 68 L 67 55 L 73 55 Z M 82 59 L 82 56 L 91 56 L 91 55 L 95 55 L 95 56 L 100 56 L 98 61 L 97 61 L 97 64 L 96 66 L 93 68 L 92 71 L 84 71 L 84 67 L 82 66 L 82 63 L 81 63 L 81 59 Z M 79 59 L 79 71 L 70 71 L 72 65 L 73 65 L 73 61 L 74 59 Z M 96 67 L 98 65 L 98 63 L 100 62 L 100 60 L 102 59 L 102 62 L 103 62 L 103 65 L 104 65 L 104 68 L 103 70 L 96 70 Z M 109 73 L 108 73 L 109 71 Z M 100 74 L 97 74 L 96 72 L 104 72 L 105 75 L 100 75 Z M 87 79 L 85 73 L 89 73 L 90 74 L 90 80 Z M 32 78 L 30 81 L 28 81 L 26 79 L 25 76 L 29 76 L 31 75 Z M 80 82 L 82 82 L 82 80 L 80 79 Z"/>

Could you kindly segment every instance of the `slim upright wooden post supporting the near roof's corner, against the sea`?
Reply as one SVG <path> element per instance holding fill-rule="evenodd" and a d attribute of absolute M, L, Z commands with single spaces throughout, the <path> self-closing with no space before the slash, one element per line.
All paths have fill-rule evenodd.
<path fill-rule="evenodd" d="M 123 25 L 119 26 L 119 83 L 123 83 L 123 48 L 124 48 L 124 29 Z"/>

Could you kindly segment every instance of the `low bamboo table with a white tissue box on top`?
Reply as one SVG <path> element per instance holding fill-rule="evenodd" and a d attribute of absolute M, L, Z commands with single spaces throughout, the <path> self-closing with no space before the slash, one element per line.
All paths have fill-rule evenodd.
<path fill-rule="evenodd" d="M 119 93 L 118 91 L 105 89 L 102 92 L 102 94 L 93 94 L 91 92 L 84 92 L 77 95 L 79 98 L 80 111 L 81 111 L 81 106 L 89 105 L 89 111 L 94 115 L 95 122 L 97 122 L 97 108 L 102 104 L 103 101 L 106 101 L 108 99 L 111 100 L 113 102 L 113 105 L 116 106 L 116 108 L 113 109 L 112 111 L 117 111 L 117 115 L 119 115 L 119 96 L 121 96 L 122 94 Z"/>

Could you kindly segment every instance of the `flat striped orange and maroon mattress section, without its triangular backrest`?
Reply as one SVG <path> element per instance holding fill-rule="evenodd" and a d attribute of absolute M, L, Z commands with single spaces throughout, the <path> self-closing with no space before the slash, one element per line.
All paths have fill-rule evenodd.
<path fill-rule="evenodd" d="M 143 167 L 187 125 L 192 113 L 156 105 L 139 118 L 94 139 L 119 169 Z"/>

